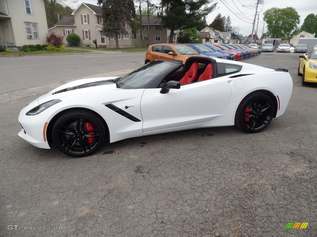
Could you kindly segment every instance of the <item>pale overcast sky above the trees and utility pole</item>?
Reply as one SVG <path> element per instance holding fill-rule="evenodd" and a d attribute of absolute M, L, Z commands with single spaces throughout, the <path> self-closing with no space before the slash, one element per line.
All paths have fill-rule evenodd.
<path fill-rule="evenodd" d="M 317 14 L 317 1 L 316 0 L 262 0 L 263 4 L 259 4 L 258 13 L 260 14 L 259 23 L 257 23 L 256 17 L 256 27 L 258 28 L 258 35 L 262 35 L 263 32 L 263 13 L 273 7 L 286 8 L 293 7 L 298 15 L 300 15 L 301 23 L 299 27 L 303 24 L 304 19 L 307 15 L 313 13 Z M 97 0 L 84 0 L 84 3 L 91 3 L 97 5 Z M 157 2 L 152 0 L 151 2 Z M 78 1 L 78 5 L 81 1 Z M 217 3 L 217 9 L 214 10 L 207 16 L 207 23 L 210 24 L 216 17 L 217 14 L 221 13 L 223 16 L 230 16 L 231 25 L 240 28 L 240 34 L 249 35 L 252 32 L 252 23 L 254 21 L 254 16 L 256 12 L 256 0 L 213 0 L 213 3 Z M 243 6 L 244 5 L 244 6 Z M 145 6 L 145 4 L 144 4 Z M 264 32 L 266 32 L 266 27 L 264 25 Z"/>

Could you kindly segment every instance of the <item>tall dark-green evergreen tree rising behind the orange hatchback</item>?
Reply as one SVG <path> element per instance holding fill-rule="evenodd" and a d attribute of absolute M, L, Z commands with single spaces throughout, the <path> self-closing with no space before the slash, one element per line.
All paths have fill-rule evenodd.
<path fill-rule="evenodd" d="M 213 0 L 162 0 L 161 4 L 166 6 L 165 14 L 161 15 L 162 27 L 171 30 L 170 43 L 173 41 L 174 30 L 179 28 L 188 29 L 195 27 L 203 17 L 212 12 L 217 3 Z"/>

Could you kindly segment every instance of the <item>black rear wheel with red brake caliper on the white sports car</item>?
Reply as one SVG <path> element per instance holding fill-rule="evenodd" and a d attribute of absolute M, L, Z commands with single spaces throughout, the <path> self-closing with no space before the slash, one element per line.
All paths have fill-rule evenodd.
<path fill-rule="evenodd" d="M 274 114 L 273 100 L 264 93 L 254 92 L 246 96 L 238 106 L 235 125 L 243 131 L 256 133 L 270 124 Z"/>

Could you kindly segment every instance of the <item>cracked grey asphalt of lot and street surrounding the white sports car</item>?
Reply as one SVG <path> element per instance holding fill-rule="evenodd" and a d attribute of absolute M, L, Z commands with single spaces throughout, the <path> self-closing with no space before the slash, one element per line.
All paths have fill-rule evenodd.
<path fill-rule="evenodd" d="M 143 56 L 0 58 L 0 96 L 61 83 L 61 75 L 131 69 L 143 64 L 145 52 L 136 54 Z M 171 132 L 74 159 L 17 136 L 19 111 L 38 95 L 1 103 L 0 236 L 316 236 L 317 87 L 301 85 L 298 55 L 245 60 L 287 67 L 293 79 L 286 112 L 256 134 L 234 127 Z M 101 69 L 85 67 L 98 61 Z M 49 79 L 41 81 L 45 71 Z M 309 224 L 285 229 L 288 222 Z"/>

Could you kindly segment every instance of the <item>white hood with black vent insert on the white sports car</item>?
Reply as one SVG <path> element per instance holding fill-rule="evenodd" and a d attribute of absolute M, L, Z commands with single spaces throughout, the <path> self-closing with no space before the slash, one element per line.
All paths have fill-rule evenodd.
<path fill-rule="evenodd" d="M 118 78 L 118 76 L 112 77 L 96 77 L 76 80 L 73 82 L 68 82 L 62 86 L 59 86 L 49 93 L 39 97 L 38 103 L 44 103 L 48 100 L 60 99 L 64 96 L 74 96 L 76 94 L 87 93 L 96 90 L 113 90 L 117 89 L 116 84 L 113 79 Z"/>

